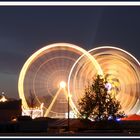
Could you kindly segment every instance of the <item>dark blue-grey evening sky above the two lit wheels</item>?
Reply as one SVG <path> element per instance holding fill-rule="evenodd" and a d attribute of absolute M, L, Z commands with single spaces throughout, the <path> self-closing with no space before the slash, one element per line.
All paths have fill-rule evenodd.
<path fill-rule="evenodd" d="M 0 7 L 0 93 L 18 98 L 24 62 L 56 42 L 116 46 L 139 60 L 140 7 Z"/>

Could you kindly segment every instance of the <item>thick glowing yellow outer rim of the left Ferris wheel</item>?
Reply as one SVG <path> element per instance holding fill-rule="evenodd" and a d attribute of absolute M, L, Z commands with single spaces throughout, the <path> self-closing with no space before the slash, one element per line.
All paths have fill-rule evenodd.
<path fill-rule="evenodd" d="M 23 67 L 20 71 L 20 75 L 19 75 L 19 79 L 18 79 L 18 92 L 19 92 L 19 97 L 22 99 L 22 104 L 23 104 L 24 108 L 26 108 L 26 109 L 29 109 L 29 106 L 27 104 L 25 94 L 24 94 L 24 92 L 25 92 L 24 91 L 25 90 L 24 89 L 24 80 L 25 80 L 25 76 L 28 71 L 28 68 L 30 67 L 30 65 L 32 65 L 32 63 L 38 57 L 41 56 L 41 54 L 45 53 L 46 51 L 50 51 L 50 49 L 54 49 L 54 48 L 65 48 L 66 50 L 73 49 L 76 52 L 80 52 L 82 54 L 82 56 L 86 56 L 89 60 L 91 60 L 93 66 L 95 66 L 95 68 L 97 69 L 98 74 L 103 75 L 103 71 L 102 71 L 100 65 L 98 64 L 98 62 L 95 60 L 95 58 L 92 55 L 90 55 L 89 52 L 87 52 L 83 48 L 73 45 L 73 44 L 69 44 L 69 43 L 55 43 L 55 44 L 47 45 L 47 46 L 39 49 L 38 51 L 36 51 L 34 54 L 32 54 L 28 58 L 28 60 L 25 62 L 25 64 L 23 65 Z M 71 72 L 72 72 L 72 70 L 70 71 L 70 73 Z M 69 83 L 67 84 L 67 86 L 68 86 L 68 93 L 69 93 Z M 75 108 L 74 103 L 73 103 L 73 108 Z"/>

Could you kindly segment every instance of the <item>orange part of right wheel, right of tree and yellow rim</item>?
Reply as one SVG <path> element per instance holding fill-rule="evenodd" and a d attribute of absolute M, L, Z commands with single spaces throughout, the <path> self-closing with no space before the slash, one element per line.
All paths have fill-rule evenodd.
<path fill-rule="evenodd" d="M 99 47 L 90 51 L 111 84 L 112 94 L 126 114 L 140 110 L 140 63 L 127 51 L 116 47 Z"/>

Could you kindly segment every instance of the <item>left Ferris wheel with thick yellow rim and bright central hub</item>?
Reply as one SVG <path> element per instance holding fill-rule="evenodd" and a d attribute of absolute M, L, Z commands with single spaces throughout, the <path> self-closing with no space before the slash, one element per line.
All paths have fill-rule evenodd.
<path fill-rule="evenodd" d="M 56 43 L 45 46 L 29 57 L 24 64 L 18 82 L 19 96 L 24 108 L 29 108 L 29 95 L 35 96 L 37 106 L 44 103 L 46 117 L 64 118 L 68 112 L 68 76 L 75 61 L 84 54 L 84 61 L 91 62 L 98 73 L 102 70 L 97 61 L 84 49 L 68 44 Z M 78 112 L 71 100 L 70 109 Z"/>

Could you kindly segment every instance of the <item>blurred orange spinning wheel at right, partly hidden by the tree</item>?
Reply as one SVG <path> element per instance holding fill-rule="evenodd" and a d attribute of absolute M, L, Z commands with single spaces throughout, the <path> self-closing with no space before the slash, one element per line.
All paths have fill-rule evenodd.
<path fill-rule="evenodd" d="M 126 114 L 139 113 L 140 108 L 140 63 L 130 53 L 116 47 L 97 47 L 89 51 L 101 66 L 104 77 L 110 85 L 111 93 L 121 103 Z M 81 56 L 73 65 L 68 85 L 69 92 L 75 93 L 72 100 L 78 108 L 78 100 L 85 87 L 96 75 L 91 62 Z"/>

